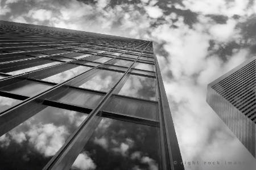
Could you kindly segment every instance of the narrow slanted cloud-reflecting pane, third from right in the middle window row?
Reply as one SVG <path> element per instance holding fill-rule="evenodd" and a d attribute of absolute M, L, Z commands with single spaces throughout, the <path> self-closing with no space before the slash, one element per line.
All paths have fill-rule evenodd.
<path fill-rule="evenodd" d="M 43 80 L 47 81 L 47 82 L 53 82 L 53 83 L 62 83 L 62 82 L 65 82 L 65 80 L 71 79 L 74 76 L 84 73 L 85 71 L 87 71 L 89 69 L 91 69 L 91 68 L 85 67 L 85 66 L 78 66 L 73 69 L 64 71 L 62 73 L 49 76 Z"/>

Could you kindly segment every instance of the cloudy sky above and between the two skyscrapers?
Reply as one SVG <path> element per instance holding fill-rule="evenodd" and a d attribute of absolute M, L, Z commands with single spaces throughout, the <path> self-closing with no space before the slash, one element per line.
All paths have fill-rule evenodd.
<path fill-rule="evenodd" d="M 208 83 L 256 53 L 255 13 L 253 0 L 0 1 L 1 20 L 154 41 L 182 158 L 199 161 L 186 169 L 255 163 L 205 101 Z"/>

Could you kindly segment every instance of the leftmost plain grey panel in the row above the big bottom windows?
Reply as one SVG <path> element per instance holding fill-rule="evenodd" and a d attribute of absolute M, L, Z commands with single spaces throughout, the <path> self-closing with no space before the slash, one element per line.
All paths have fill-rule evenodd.
<path fill-rule="evenodd" d="M 18 83 L 10 84 L 9 86 L 2 87 L 0 88 L 0 91 L 9 91 L 11 93 L 24 96 L 35 96 L 51 87 L 52 85 L 46 83 L 23 80 Z"/>

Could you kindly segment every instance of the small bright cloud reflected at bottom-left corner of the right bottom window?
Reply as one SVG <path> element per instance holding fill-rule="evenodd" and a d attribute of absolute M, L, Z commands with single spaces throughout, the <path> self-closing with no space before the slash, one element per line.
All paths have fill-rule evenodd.
<path fill-rule="evenodd" d="M 81 170 L 92 170 L 96 169 L 96 164 L 94 164 L 93 160 L 86 154 L 86 152 L 83 152 L 77 156 L 77 159 L 72 165 L 72 169 L 73 168 Z"/>

